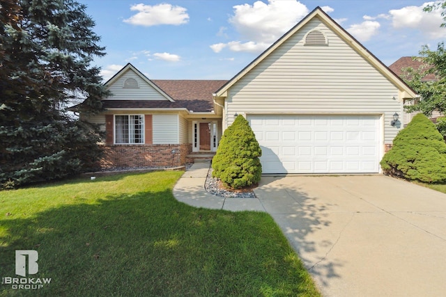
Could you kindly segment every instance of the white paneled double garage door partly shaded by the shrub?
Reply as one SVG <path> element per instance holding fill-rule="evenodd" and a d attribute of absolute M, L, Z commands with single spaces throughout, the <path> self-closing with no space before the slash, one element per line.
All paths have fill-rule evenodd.
<path fill-rule="evenodd" d="M 248 115 L 263 173 L 379 170 L 378 115 Z"/>

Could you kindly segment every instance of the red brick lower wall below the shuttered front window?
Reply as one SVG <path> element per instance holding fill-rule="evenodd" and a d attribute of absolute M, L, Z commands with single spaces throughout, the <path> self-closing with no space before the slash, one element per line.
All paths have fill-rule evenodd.
<path fill-rule="evenodd" d="M 178 145 L 102 145 L 101 168 L 178 167 L 186 163 L 192 144 Z M 176 152 L 174 152 L 176 150 Z"/>

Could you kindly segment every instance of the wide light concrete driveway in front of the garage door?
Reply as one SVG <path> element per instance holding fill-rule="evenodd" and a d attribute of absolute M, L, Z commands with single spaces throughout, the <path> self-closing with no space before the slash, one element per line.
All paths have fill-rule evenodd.
<path fill-rule="evenodd" d="M 324 296 L 445 296 L 446 195 L 385 177 L 262 177 Z"/>

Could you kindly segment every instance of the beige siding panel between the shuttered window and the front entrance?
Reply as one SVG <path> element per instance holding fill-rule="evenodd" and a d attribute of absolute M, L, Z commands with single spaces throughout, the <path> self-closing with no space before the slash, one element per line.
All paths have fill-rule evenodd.
<path fill-rule="evenodd" d="M 153 115 L 153 144 L 177 144 L 178 115 Z"/>

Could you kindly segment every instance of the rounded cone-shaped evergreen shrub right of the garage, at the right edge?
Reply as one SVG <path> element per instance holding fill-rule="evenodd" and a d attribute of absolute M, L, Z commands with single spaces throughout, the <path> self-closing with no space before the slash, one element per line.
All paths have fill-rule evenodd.
<path fill-rule="evenodd" d="M 419 113 L 399 131 L 380 164 L 389 175 L 421 182 L 446 182 L 446 143 L 435 125 Z"/>

